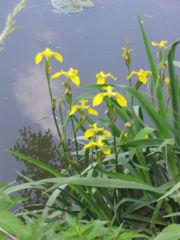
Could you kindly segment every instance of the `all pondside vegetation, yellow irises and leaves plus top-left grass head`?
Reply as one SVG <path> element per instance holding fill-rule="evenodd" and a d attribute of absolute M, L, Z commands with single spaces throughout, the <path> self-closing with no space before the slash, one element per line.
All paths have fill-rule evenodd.
<path fill-rule="evenodd" d="M 24 4 L 9 15 L 0 44 L 15 29 L 14 17 Z M 57 169 L 18 146 L 10 150 L 49 177 L 21 174 L 23 183 L 0 184 L 0 240 L 179 239 L 180 85 L 175 67 L 180 63 L 175 53 L 180 41 L 150 42 L 140 17 L 138 24 L 149 68 L 132 69 L 127 39 L 121 49 L 126 85 L 102 70 L 94 84 L 85 85 L 78 69 L 61 69 L 61 53 L 46 48 L 36 54 L 49 89 L 62 163 Z M 52 81 L 62 82 L 60 98 L 53 95 Z M 82 95 L 74 98 L 76 88 Z M 33 189 L 43 204 L 38 198 L 27 208 L 29 196 L 22 191 Z"/>

